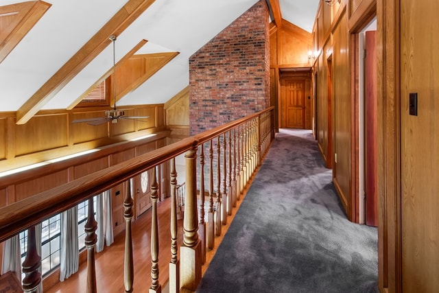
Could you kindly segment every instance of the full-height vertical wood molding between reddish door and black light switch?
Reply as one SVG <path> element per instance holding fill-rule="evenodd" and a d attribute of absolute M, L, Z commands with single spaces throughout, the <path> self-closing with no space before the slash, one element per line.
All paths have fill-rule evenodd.
<path fill-rule="evenodd" d="M 378 276 L 381 292 L 402 292 L 399 0 L 377 1 Z"/>

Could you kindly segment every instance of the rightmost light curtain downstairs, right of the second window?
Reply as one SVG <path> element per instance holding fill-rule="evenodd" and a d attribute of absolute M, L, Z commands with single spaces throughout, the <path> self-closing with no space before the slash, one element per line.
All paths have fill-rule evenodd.
<path fill-rule="evenodd" d="M 96 252 L 104 250 L 104 246 L 110 246 L 114 242 L 112 231 L 112 204 L 111 192 L 104 191 L 96 198 L 96 221 L 97 221 L 97 243 Z"/>

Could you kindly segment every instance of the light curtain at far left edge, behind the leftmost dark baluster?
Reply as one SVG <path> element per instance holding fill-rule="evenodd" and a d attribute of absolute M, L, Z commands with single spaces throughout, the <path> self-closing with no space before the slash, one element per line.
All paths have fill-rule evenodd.
<path fill-rule="evenodd" d="M 15 272 L 16 278 L 21 281 L 21 250 L 19 235 L 15 235 L 6 240 L 3 246 L 1 274 L 9 271 Z"/>

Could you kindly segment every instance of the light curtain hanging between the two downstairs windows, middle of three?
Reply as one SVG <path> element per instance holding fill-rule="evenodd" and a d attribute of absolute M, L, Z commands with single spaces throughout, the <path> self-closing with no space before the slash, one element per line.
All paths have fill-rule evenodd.
<path fill-rule="evenodd" d="M 78 206 L 61 213 L 60 281 L 78 272 Z"/>

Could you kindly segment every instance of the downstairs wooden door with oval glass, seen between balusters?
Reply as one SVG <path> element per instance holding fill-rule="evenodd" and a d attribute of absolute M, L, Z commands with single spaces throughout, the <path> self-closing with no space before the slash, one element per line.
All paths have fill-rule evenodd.
<path fill-rule="evenodd" d="M 136 204 L 136 218 L 151 207 L 151 172 L 145 171 L 134 177 L 133 192 Z"/>

